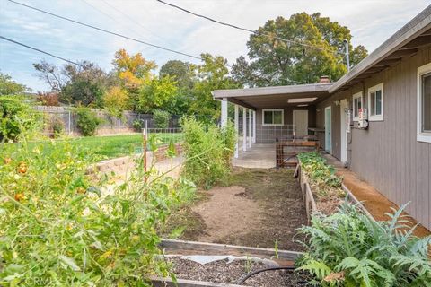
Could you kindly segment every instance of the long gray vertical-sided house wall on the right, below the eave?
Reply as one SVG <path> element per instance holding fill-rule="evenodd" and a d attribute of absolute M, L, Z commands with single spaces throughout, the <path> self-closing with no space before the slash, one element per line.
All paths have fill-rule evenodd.
<path fill-rule="evenodd" d="M 417 141 L 417 73 L 419 66 L 430 62 L 431 48 L 422 48 L 416 55 L 348 91 L 335 93 L 317 106 L 320 111 L 316 117 L 316 125 L 324 126 L 324 107 L 332 106 L 332 153 L 340 158 L 340 135 L 334 129 L 334 125 L 340 125 L 340 117 L 334 101 L 348 99 L 351 108 L 352 95 L 363 91 L 364 107 L 368 108 L 368 88 L 383 83 L 383 121 L 370 121 L 367 130 L 357 129 L 355 123 L 347 136 L 347 160 L 351 170 L 392 202 L 399 205 L 410 202 L 407 211 L 428 229 L 431 229 L 431 143 Z"/>

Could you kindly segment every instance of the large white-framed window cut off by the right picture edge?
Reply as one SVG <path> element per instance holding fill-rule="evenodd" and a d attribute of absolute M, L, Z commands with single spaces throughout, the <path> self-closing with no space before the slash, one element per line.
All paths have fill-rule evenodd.
<path fill-rule="evenodd" d="M 431 143 L 431 63 L 418 68 L 418 141 Z"/>

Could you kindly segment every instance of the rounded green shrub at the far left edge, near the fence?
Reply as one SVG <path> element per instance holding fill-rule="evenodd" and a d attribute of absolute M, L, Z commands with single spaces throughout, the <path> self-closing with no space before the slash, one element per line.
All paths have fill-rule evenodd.
<path fill-rule="evenodd" d="M 36 130 L 40 117 L 18 96 L 0 97 L 0 140 L 18 140 L 23 130 Z"/>

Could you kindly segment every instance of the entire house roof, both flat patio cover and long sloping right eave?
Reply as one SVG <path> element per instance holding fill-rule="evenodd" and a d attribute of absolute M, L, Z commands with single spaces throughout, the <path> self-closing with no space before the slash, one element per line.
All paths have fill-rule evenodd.
<path fill-rule="evenodd" d="M 336 83 L 312 83 L 292 86 L 272 86 L 250 89 L 216 90 L 215 100 L 228 98 L 246 108 L 254 109 L 269 107 L 286 99 L 299 96 L 321 98 L 330 93 L 346 90 L 352 85 L 363 81 L 373 74 L 379 73 L 391 65 L 396 65 L 401 58 L 409 57 L 418 52 L 418 48 L 431 44 L 431 5 L 419 13 L 409 23 L 387 39 L 373 53 L 355 65 Z M 259 99 L 258 99 L 259 98 Z M 319 99 L 320 100 L 320 99 Z M 318 100 L 316 100 L 318 101 Z"/>

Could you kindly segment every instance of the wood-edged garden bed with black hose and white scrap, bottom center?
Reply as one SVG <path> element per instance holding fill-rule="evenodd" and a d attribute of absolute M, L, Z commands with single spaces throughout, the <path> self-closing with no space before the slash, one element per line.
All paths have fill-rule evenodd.
<path fill-rule="evenodd" d="M 246 274 L 268 267 L 292 268 L 301 252 L 275 248 L 163 239 L 161 243 L 178 286 L 239 286 Z M 271 270 L 252 275 L 242 286 L 305 286 L 310 279 L 293 270 Z M 154 286 L 174 286 L 171 279 L 153 278 Z"/>

